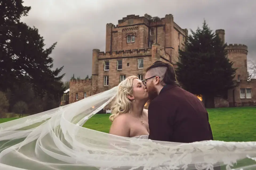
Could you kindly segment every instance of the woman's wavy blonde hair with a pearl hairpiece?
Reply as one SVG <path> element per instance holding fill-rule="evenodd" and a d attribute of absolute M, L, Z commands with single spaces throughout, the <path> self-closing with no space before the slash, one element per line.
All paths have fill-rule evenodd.
<path fill-rule="evenodd" d="M 133 80 L 139 79 L 136 76 L 129 76 L 125 80 L 123 80 L 118 85 L 117 95 L 115 97 L 115 101 L 111 107 L 111 116 L 109 117 L 110 121 L 114 121 L 114 119 L 123 113 L 127 113 L 131 111 L 132 102 L 127 98 L 127 95 L 133 94 Z"/>

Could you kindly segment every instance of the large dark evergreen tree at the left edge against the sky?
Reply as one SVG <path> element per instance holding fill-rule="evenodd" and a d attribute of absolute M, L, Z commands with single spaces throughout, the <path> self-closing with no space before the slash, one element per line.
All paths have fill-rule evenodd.
<path fill-rule="evenodd" d="M 11 90 L 15 85 L 26 85 L 26 77 L 38 95 L 49 92 L 57 99 L 63 94 L 60 75 L 63 67 L 53 68 L 50 57 L 55 45 L 44 49 L 44 39 L 38 29 L 20 22 L 31 7 L 22 5 L 22 0 L 0 2 L 0 90 Z"/>

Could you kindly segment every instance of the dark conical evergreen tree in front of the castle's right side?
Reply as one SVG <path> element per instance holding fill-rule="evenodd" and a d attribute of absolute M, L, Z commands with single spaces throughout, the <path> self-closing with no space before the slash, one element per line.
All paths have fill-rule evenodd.
<path fill-rule="evenodd" d="M 202 95 L 206 107 L 214 107 L 214 96 L 227 94 L 234 88 L 236 69 L 227 58 L 226 44 L 210 30 L 206 21 L 202 29 L 187 38 L 185 51 L 179 50 L 177 79 L 184 89 Z"/>

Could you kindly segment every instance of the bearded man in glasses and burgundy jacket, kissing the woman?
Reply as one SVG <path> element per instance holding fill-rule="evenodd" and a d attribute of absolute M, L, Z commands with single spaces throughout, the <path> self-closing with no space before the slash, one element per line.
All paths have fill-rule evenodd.
<path fill-rule="evenodd" d="M 156 61 L 146 69 L 149 139 L 190 143 L 213 140 L 208 112 L 193 94 L 180 88 L 173 66 Z"/>

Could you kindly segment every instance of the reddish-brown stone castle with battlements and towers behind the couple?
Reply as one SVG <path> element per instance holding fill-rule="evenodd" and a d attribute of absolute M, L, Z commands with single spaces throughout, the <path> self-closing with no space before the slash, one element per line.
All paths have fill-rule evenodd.
<path fill-rule="evenodd" d="M 225 43 L 225 30 L 216 33 Z M 106 52 L 93 49 L 91 79 L 71 79 L 61 106 L 109 90 L 131 75 L 143 80 L 144 69 L 157 60 L 177 67 L 178 49 L 185 49 L 187 36 L 188 30 L 179 27 L 171 14 L 165 18 L 127 15 L 118 25 L 107 24 Z M 226 50 L 238 68 L 234 78 L 237 87 L 229 90 L 226 98 L 215 97 L 214 107 L 255 106 L 256 79 L 247 80 L 247 46 L 230 44 Z"/>

